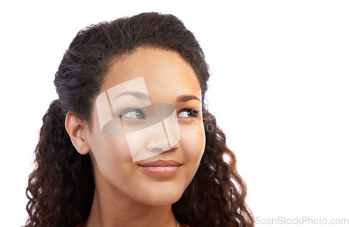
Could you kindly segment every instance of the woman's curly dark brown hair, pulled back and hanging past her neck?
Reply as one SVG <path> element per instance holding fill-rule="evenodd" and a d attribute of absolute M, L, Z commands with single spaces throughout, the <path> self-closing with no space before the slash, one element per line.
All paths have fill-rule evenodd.
<path fill-rule="evenodd" d="M 68 111 L 89 123 L 96 95 L 112 58 L 138 47 L 179 53 L 193 67 L 207 91 L 209 68 L 191 31 L 173 15 L 142 13 L 82 29 L 59 65 L 54 84 L 59 95 L 43 117 L 36 146 L 36 168 L 29 175 L 26 226 L 75 226 L 87 220 L 94 198 L 94 172 L 89 155 L 80 155 L 64 127 Z M 202 102 L 206 146 L 198 171 L 177 203 L 174 216 L 181 224 L 253 226 L 245 203 L 246 185 L 237 173 L 236 158 L 225 143 L 213 115 Z"/>

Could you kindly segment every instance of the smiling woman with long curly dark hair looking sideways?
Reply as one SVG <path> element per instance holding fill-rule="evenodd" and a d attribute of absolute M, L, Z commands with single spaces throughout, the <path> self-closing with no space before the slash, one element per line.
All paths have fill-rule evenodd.
<path fill-rule="evenodd" d="M 203 102 L 208 79 L 198 41 L 172 15 L 77 33 L 43 117 L 26 226 L 253 226 Z"/>

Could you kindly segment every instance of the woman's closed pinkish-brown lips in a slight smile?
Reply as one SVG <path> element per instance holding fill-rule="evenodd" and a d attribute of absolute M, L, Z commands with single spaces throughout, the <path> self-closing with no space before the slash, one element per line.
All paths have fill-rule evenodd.
<path fill-rule="evenodd" d="M 157 160 L 154 162 L 140 163 L 138 166 L 150 175 L 171 177 L 179 172 L 181 163 L 174 160 Z"/>

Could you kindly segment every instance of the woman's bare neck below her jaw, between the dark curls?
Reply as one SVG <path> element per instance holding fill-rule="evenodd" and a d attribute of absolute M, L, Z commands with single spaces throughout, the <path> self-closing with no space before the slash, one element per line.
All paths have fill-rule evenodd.
<path fill-rule="evenodd" d="M 96 179 L 94 201 L 86 227 L 168 226 L 176 227 L 172 205 L 147 205 L 121 194 Z M 98 187 L 99 186 L 99 187 Z"/>

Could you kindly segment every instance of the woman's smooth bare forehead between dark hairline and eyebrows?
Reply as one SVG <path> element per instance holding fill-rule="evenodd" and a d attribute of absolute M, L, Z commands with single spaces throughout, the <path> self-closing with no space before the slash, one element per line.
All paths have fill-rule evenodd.
<path fill-rule="evenodd" d="M 177 52 L 154 48 L 140 48 L 114 61 L 101 90 L 139 77 L 143 77 L 150 97 L 178 95 L 179 92 L 201 95 L 200 83 L 191 65 Z M 137 88 L 138 84 L 134 86 Z"/>

